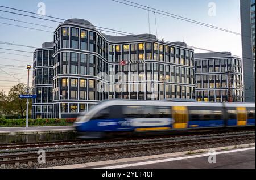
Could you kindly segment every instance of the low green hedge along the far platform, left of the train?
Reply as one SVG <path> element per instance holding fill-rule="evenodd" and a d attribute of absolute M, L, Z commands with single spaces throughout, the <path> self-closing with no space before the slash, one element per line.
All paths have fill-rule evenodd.
<path fill-rule="evenodd" d="M 76 118 L 68 119 L 28 119 L 29 126 L 72 125 Z M 26 126 L 26 119 L 0 118 L 0 126 Z"/>

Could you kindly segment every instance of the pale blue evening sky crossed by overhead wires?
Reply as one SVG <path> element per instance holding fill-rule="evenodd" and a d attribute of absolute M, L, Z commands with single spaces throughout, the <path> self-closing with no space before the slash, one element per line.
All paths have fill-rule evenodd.
<path fill-rule="evenodd" d="M 119 0 L 124 2 L 123 0 Z M 158 10 L 167 11 L 172 14 L 184 16 L 185 18 L 197 20 L 228 29 L 229 31 L 241 33 L 240 23 L 240 3 L 239 0 L 130 0 L 147 7 L 154 7 Z M 55 16 L 61 19 L 80 18 L 89 20 L 93 25 L 111 28 L 118 31 L 125 31 L 134 34 L 148 33 L 156 35 L 159 39 L 166 41 L 184 41 L 189 46 L 214 50 L 229 51 L 233 55 L 242 56 L 241 36 L 234 35 L 217 29 L 204 27 L 202 25 L 184 22 L 183 20 L 171 18 L 150 12 L 150 29 L 148 28 L 148 11 L 139 8 L 123 5 L 112 0 L 0 0 L 0 6 L 18 8 L 19 10 L 38 12 L 38 3 L 46 5 L 46 15 Z M 209 3 L 216 5 L 216 13 L 210 13 L 212 7 Z M 0 7 L 3 11 L 15 10 Z M 213 11 L 210 11 L 213 12 Z M 38 15 L 39 18 L 44 18 Z M 3 18 L 21 20 L 28 23 L 47 25 L 52 28 L 40 27 L 21 22 L 14 22 Z M 11 42 L 26 46 L 42 47 L 43 42 L 53 41 L 53 33 L 35 29 L 15 27 L 14 24 L 24 27 L 36 28 L 44 31 L 53 32 L 59 23 L 49 22 L 30 18 L 21 15 L 10 14 L 0 11 L 0 42 Z M 108 32 L 105 32 L 108 34 Z M 118 35 L 118 34 L 117 34 Z M 6 93 L 13 85 L 27 82 L 28 64 L 32 65 L 32 53 L 16 52 L 4 49 L 23 50 L 34 52 L 35 48 L 25 48 L 0 43 L 0 91 Z M 2 53 L 5 52 L 5 53 Z M 6 54 L 15 53 L 26 56 Z M 195 49 L 195 53 L 203 53 L 202 50 Z M 28 56 L 28 57 L 27 57 Z M 14 61 L 16 59 L 19 61 Z M 9 66 L 4 66 L 9 65 Z M 3 72 L 5 71 L 5 72 Z M 32 85 L 32 72 L 30 72 L 30 85 Z"/>

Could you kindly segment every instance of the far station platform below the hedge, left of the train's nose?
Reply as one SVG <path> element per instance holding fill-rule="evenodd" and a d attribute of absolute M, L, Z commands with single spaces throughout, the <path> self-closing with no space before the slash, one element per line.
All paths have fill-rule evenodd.
<path fill-rule="evenodd" d="M 75 138 L 75 126 L 0 127 L 0 144 L 73 140 Z"/>

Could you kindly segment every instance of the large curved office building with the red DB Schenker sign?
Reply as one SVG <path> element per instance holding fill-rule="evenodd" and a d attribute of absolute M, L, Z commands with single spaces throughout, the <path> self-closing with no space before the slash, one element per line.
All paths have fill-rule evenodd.
<path fill-rule="evenodd" d="M 69 19 L 56 28 L 53 49 L 53 117 L 77 117 L 106 99 L 195 98 L 193 49 L 184 42 L 110 36 Z"/>

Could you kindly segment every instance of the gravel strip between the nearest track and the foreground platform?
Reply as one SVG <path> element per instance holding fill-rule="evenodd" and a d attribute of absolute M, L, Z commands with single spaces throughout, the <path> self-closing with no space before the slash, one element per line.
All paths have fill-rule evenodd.
<path fill-rule="evenodd" d="M 38 164 L 37 162 L 32 162 L 31 164 L 19 164 L 19 165 L 5 165 L 1 166 L 0 169 L 34 169 L 34 168 L 47 168 L 52 166 L 61 166 L 61 165 L 72 165 L 72 164 L 81 164 L 87 162 L 96 162 L 96 161 L 106 161 L 106 160 L 115 160 L 119 158 L 130 158 L 130 157 L 140 157 L 140 156 L 149 156 L 149 155 L 159 155 L 164 153 L 174 153 L 182 151 L 194 151 L 197 149 L 205 148 L 214 148 L 214 147 L 225 147 L 229 145 L 239 145 L 239 144 L 249 144 L 255 143 L 255 140 L 243 140 L 230 143 L 221 143 L 221 144 L 210 144 L 210 145 L 197 145 L 196 147 L 177 147 L 177 148 L 168 148 L 168 149 L 156 149 L 150 151 L 138 151 L 130 153 L 121 153 L 114 155 L 101 155 L 101 156 L 87 156 L 81 158 L 66 158 L 57 161 L 47 161 L 46 164 Z"/>

